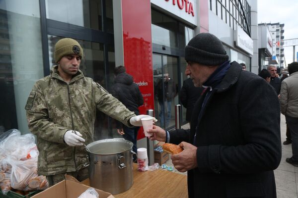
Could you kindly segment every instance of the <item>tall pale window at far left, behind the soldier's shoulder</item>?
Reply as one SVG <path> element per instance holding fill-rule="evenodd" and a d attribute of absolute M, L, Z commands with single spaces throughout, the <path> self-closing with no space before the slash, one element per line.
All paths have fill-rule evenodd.
<path fill-rule="evenodd" d="M 24 107 L 43 77 L 39 10 L 39 0 L 0 1 L 0 133 L 29 132 Z"/>

